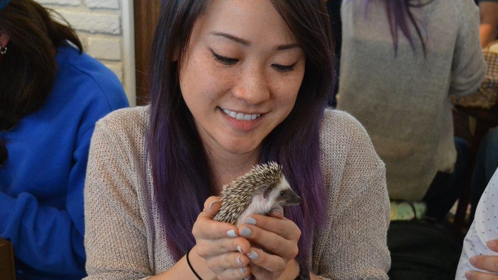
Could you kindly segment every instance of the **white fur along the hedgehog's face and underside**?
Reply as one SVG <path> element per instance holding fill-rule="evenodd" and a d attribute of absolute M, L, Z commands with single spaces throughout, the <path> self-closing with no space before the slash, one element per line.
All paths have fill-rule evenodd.
<path fill-rule="evenodd" d="M 285 176 L 282 176 L 282 180 L 279 184 L 273 188 L 273 190 L 269 193 L 267 198 L 263 197 L 263 193 L 257 194 L 254 196 L 253 201 L 247 207 L 247 209 L 240 215 L 237 220 L 236 226 L 239 226 L 245 222 L 247 216 L 253 214 L 267 214 L 271 212 L 273 209 L 282 210 L 282 206 L 279 202 L 276 202 L 276 198 L 279 196 L 279 193 L 283 190 L 290 189 L 289 182 L 285 179 Z"/>

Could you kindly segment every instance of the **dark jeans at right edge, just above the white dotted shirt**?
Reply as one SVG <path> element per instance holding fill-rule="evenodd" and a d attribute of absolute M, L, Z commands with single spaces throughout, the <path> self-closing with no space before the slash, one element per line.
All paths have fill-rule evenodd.
<path fill-rule="evenodd" d="M 491 129 L 481 141 L 477 152 L 476 169 L 472 174 L 470 189 L 470 222 L 474 220 L 477 204 L 494 171 L 498 168 L 498 127 Z"/>

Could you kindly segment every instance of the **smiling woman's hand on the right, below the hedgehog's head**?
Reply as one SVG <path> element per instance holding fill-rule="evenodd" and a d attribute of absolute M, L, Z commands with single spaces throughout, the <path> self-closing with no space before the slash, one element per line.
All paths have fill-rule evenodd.
<path fill-rule="evenodd" d="M 269 217 L 249 216 L 239 226 L 239 234 L 262 248 L 252 247 L 247 254 L 256 279 L 277 279 L 281 275 L 286 279 L 297 277 L 299 267 L 294 258 L 301 231 L 293 221 L 283 217 L 282 212 L 273 211 Z"/>

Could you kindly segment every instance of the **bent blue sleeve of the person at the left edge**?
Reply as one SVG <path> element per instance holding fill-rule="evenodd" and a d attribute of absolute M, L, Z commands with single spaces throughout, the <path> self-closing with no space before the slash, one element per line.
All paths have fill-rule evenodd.
<path fill-rule="evenodd" d="M 10 197 L 0 193 L 0 232 L 9 239 L 16 257 L 36 270 L 85 275 L 83 249 L 83 186 L 93 126 L 86 129 L 73 153 L 67 182 L 66 209 L 40 206 L 29 193 Z M 29 261 L 28 261 L 29 260 Z"/>

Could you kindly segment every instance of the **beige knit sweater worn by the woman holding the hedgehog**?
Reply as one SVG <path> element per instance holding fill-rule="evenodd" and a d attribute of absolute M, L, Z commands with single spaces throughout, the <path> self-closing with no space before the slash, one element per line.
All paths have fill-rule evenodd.
<path fill-rule="evenodd" d="M 88 279 L 142 278 L 175 264 L 156 206 L 146 202 L 153 195 L 144 158 L 148 112 L 118 110 L 95 126 L 85 184 Z M 340 111 L 326 111 L 321 149 L 330 205 L 326 228 L 313 237 L 312 271 L 334 279 L 387 278 L 384 164 L 361 124 Z"/>

